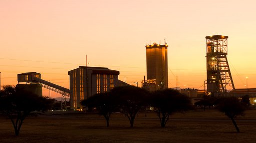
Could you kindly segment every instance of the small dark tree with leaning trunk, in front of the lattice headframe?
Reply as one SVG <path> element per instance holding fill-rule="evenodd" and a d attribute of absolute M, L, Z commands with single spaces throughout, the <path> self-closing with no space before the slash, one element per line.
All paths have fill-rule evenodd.
<path fill-rule="evenodd" d="M 235 129 L 239 132 L 239 128 L 234 121 L 237 116 L 244 115 L 245 106 L 236 97 L 222 97 L 216 107 L 220 112 L 224 112 L 225 115 L 231 119 Z"/>

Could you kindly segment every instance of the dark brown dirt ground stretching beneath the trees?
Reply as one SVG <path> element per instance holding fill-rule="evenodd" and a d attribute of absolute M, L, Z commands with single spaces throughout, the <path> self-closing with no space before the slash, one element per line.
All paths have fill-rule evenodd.
<path fill-rule="evenodd" d="M 54 115 L 53 115 L 54 113 Z M 115 113 L 110 127 L 96 114 L 47 112 L 28 117 L 20 135 L 14 135 L 11 121 L 0 117 L 0 143 L 256 143 L 256 109 L 236 119 L 240 133 L 231 120 L 215 110 L 177 113 L 166 128 L 160 127 L 154 112 L 142 112 L 130 128 L 128 118 Z"/>

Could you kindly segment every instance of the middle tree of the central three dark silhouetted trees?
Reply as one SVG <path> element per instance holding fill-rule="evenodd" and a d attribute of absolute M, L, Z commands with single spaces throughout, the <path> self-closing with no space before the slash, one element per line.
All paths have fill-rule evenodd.
<path fill-rule="evenodd" d="M 130 127 L 133 127 L 139 110 L 147 104 L 148 92 L 135 86 L 123 86 L 112 89 L 110 94 L 118 101 L 120 112 L 129 119 Z"/>

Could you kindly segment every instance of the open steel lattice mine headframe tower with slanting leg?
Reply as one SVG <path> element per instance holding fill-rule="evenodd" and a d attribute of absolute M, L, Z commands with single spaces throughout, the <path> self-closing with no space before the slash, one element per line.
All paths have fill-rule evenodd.
<path fill-rule="evenodd" d="M 207 80 L 205 91 L 207 95 L 218 96 L 227 90 L 235 90 L 230 68 L 227 62 L 228 36 L 206 36 L 206 70 Z"/>

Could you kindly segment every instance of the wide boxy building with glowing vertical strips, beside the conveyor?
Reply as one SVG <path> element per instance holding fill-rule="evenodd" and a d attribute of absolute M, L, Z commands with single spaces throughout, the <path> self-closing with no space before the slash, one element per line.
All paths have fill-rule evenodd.
<path fill-rule="evenodd" d="M 79 66 L 69 71 L 71 109 L 82 110 L 82 100 L 117 87 L 118 75 L 119 71 L 104 67 Z"/>

